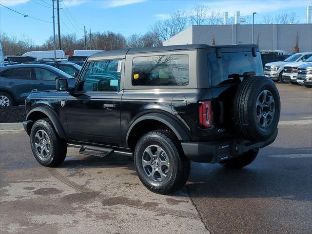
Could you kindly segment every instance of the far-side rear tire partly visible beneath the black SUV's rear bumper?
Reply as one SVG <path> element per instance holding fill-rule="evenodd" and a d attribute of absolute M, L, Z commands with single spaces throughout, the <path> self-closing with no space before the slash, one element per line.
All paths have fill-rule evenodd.
<path fill-rule="evenodd" d="M 219 162 L 226 168 L 242 168 L 251 164 L 258 155 L 259 149 L 250 150 L 241 156 Z"/>

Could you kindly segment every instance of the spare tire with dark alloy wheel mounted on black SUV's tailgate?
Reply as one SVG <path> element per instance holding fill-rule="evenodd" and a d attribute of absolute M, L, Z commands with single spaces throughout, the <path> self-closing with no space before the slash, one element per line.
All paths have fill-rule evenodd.
<path fill-rule="evenodd" d="M 270 78 L 244 78 L 234 98 L 234 122 L 244 138 L 251 141 L 269 139 L 280 116 L 278 90 Z"/>

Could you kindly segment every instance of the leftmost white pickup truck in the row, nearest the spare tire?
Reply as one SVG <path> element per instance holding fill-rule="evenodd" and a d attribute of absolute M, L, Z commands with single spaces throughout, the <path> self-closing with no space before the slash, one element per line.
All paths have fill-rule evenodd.
<path fill-rule="evenodd" d="M 305 61 L 311 56 L 312 52 L 296 53 L 284 61 L 267 63 L 264 67 L 264 75 L 270 77 L 274 81 L 279 80 L 281 83 L 288 83 L 288 80 L 283 78 L 284 66 L 288 63 Z"/>

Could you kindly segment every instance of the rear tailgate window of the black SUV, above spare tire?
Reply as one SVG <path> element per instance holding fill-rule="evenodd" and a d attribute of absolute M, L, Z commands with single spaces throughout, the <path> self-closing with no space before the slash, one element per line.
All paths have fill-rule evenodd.
<path fill-rule="evenodd" d="M 251 52 L 222 53 L 221 56 L 221 59 L 217 59 L 215 53 L 208 54 L 211 86 L 233 82 L 232 78 L 228 78 L 231 74 L 242 75 L 244 72 L 253 71 L 256 75 L 263 76 L 260 53 L 256 57 Z"/>

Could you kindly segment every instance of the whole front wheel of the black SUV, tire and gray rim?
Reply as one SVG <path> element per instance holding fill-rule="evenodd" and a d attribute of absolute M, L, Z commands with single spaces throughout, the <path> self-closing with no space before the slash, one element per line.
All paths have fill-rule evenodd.
<path fill-rule="evenodd" d="M 32 126 L 30 145 L 35 158 L 43 166 L 58 166 L 66 157 L 67 142 L 59 138 L 48 118 L 39 119 Z"/>

